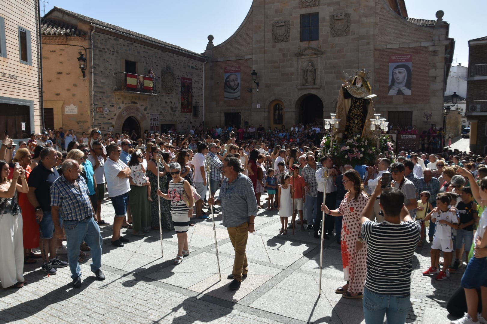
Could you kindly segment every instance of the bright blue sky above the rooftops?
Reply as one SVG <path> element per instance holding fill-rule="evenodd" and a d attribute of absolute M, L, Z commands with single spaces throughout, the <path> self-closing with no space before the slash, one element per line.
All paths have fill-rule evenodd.
<path fill-rule="evenodd" d="M 208 34 L 215 37 L 215 45 L 231 36 L 252 3 L 252 0 L 47 1 L 46 12 L 58 6 L 198 53 L 205 51 Z M 479 28 L 485 19 L 487 1 L 405 1 L 409 17 L 436 19 L 436 11 L 445 12 L 443 19 L 450 23 L 450 37 L 456 41 L 453 65 L 468 66 L 468 40 L 487 36 L 487 32 Z"/>

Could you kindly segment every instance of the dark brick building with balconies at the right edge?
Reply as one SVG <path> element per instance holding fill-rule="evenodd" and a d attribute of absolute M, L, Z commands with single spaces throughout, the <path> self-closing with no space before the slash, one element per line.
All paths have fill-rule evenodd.
<path fill-rule="evenodd" d="M 468 41 L 466 110 L 470 150 L 487 155 L 487 36 Z"/>

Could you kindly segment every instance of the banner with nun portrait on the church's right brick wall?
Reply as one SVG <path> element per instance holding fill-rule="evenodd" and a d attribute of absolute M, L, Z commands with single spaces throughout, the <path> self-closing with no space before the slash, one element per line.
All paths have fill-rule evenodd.
<path fill-rule="evenodd" d="M 389 96 L 411 96 L 412 54 L 389 56 Z"/>

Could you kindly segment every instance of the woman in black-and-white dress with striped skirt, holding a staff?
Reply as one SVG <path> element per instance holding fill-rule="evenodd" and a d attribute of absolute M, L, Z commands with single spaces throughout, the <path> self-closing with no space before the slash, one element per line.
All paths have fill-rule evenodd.
<path fill-rule="evenodd" d="M 193 191 L 189 182 L 181 177 L 179 163 L 171 163 L 169 170 L 172 180 L 169 181 L 168 193 L 162 193 L 157 189 L 157 195 L 171 201 L 171 217 L 178 237 L 178 255 L 174 259 L 174 263 L 180 264 L 183 262 L 183 257 L 189 255 L 187 229 L 191 216 L 193 216 Z"/>

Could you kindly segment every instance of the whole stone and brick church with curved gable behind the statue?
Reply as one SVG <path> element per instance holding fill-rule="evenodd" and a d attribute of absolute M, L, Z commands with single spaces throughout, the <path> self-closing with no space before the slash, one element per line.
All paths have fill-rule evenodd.
<path fill-rule="evenodd" d="M 408 17 L 405 0 L 254 0 L 227 40 L 214 46 L 208 36 L 205 120 L 322 124 L 335 112 L 344 73 L 365 68 L 372 71 L 375 109 L 390 124 L 442 125 L 454 49 L 442 17 Z M 390 95 L 399 64 L 412 69 L 410 95 Z"/>

